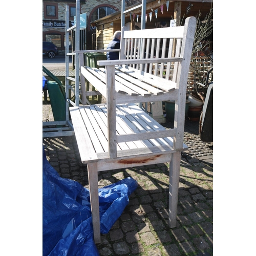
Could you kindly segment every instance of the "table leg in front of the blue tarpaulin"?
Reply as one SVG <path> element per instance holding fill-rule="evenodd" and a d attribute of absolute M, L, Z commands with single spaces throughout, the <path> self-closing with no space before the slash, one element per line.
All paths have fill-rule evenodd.
<path fill-rule="evenodd" d="M 100 243 L 98 163 L 88 164 L 88 179 L 92 209 L 93 236 L 95 244 Z"/>

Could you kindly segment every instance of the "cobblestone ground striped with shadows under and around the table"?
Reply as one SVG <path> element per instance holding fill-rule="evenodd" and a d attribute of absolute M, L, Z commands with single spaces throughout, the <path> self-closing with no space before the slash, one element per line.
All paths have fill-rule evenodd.
<path fill-rule="evenodd" d="M 51 121 L 43 105 L 43 121 Z M 166 128 L 172 123 L 165 123 Z M 198 122 L 185 121 L 177 226 L 168 226 L 169 163 L 100 172 L 99 187 L 126 177 L 139 186 L 108 234 L 101 234 L 100 255 L 213 255 L 213 144 L 203 143 Z M 80 162 L 75 136 L 43 141 L 47 159 L 63 178 L 88 187 L 87 167 Z"/>

